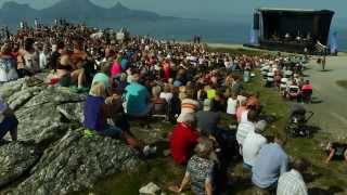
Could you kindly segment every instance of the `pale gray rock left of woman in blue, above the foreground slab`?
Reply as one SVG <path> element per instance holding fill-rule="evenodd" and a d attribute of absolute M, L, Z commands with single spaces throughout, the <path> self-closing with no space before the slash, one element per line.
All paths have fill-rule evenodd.
<path fill-rule="evenodd" d="M 69 125 L 63 121 L 57 107 L 68 107 L 64 106 L 64 104 L 68 104 L 70 109 L 74 109 L 74 104 L 78 107 L 78 103 L 81 104 L 86 96 L 61 88 L 44 89 L 37 94 L 37 90 L 39 90 L 37 88 L 25 90 L 34 91 L 34 96 L 15 113 L 20 121 L 18 139 L 23 141 L 35 140 L 37 144 L 44 145 L 61 139 L 68 130 Z M 12 100 L 12 96 L 9 100 Z M 81 108 L 76 110 L 81 110 Z M 80 113 L 79 117 L 81 115 Z"/>

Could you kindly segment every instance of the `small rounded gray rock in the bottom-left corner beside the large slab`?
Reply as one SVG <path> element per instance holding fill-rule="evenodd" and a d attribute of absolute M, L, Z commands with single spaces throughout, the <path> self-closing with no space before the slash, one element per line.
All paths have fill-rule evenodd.
<path fill-rule="evenodd" d="M 20 142 L 0 145 L 0 187 L 21 178 L 39 158 L 34 145 Z"/>

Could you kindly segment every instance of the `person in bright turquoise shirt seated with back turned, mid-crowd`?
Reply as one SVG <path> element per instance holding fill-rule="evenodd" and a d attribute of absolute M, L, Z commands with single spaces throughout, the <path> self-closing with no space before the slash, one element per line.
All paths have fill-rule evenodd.
<path fill-rule="evenodd" d="M 125 109 L 130 117 L 149 116 L 152 105 L 150 104 L 150 93 L 147 89 L 139 83 L 140 75 L 134 73 L 132 81 L 125 89 Z"/>

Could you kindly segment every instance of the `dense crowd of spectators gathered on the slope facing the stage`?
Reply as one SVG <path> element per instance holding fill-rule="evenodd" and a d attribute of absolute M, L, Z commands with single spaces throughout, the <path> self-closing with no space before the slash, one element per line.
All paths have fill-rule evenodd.
<path fill-rule="evenodd" d="M 182 192 L 191 183 L 194 194 L 222 193 L 228 184 L 228 166 L 241 156 L 255 186 L 279 195 L 307 194 L 301 177 L 306 161 L 296 159 L 290 168 L 283 150 L 285 140 L 277 135 L 272 141 L 264 135 L 271 121 L 261 117 L 260 94 L 243 87 L 249 72 L 264 67 L 273 73 L 271 84 L 281 88 L 280 67 L 292 72 L 294 83 L 298 79 L 296 66 L 283 66 L 285 57 L 216 53 L 204 44 L 150 37 L 116 40 L 108 32 L 93 38 L 91 35 L 98 31 L 64 24 L 9 35 L 1 47 L 0 81 L 48 72 L 47 84 L 88 93 L 86 133 L 123 139 L 143 155 L 156 148 L 134 138 L 129 121 L 139 120 L 150 128 L 151 117 L 164 116 L 175 123 L 168 134 L 172 159 L 187 166 L 181 185 L 170 187 L 174 192 Z M 300 89 L 311 87 L 304 83 Z M 11 132 L 16 140 L 18 121 L 2 100 L 0 112 L 0 138 Z M 235 122 L 222 127 L 224 115 Z"/>

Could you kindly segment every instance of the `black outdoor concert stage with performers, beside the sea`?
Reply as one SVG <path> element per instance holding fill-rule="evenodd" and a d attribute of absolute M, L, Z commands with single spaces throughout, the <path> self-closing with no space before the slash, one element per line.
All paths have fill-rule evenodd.
<path fill-rule="evenodd" d="M 257 9 L 249 48 L 316 53 L 326 46 L 334 12 L 329 10 Z"/>

